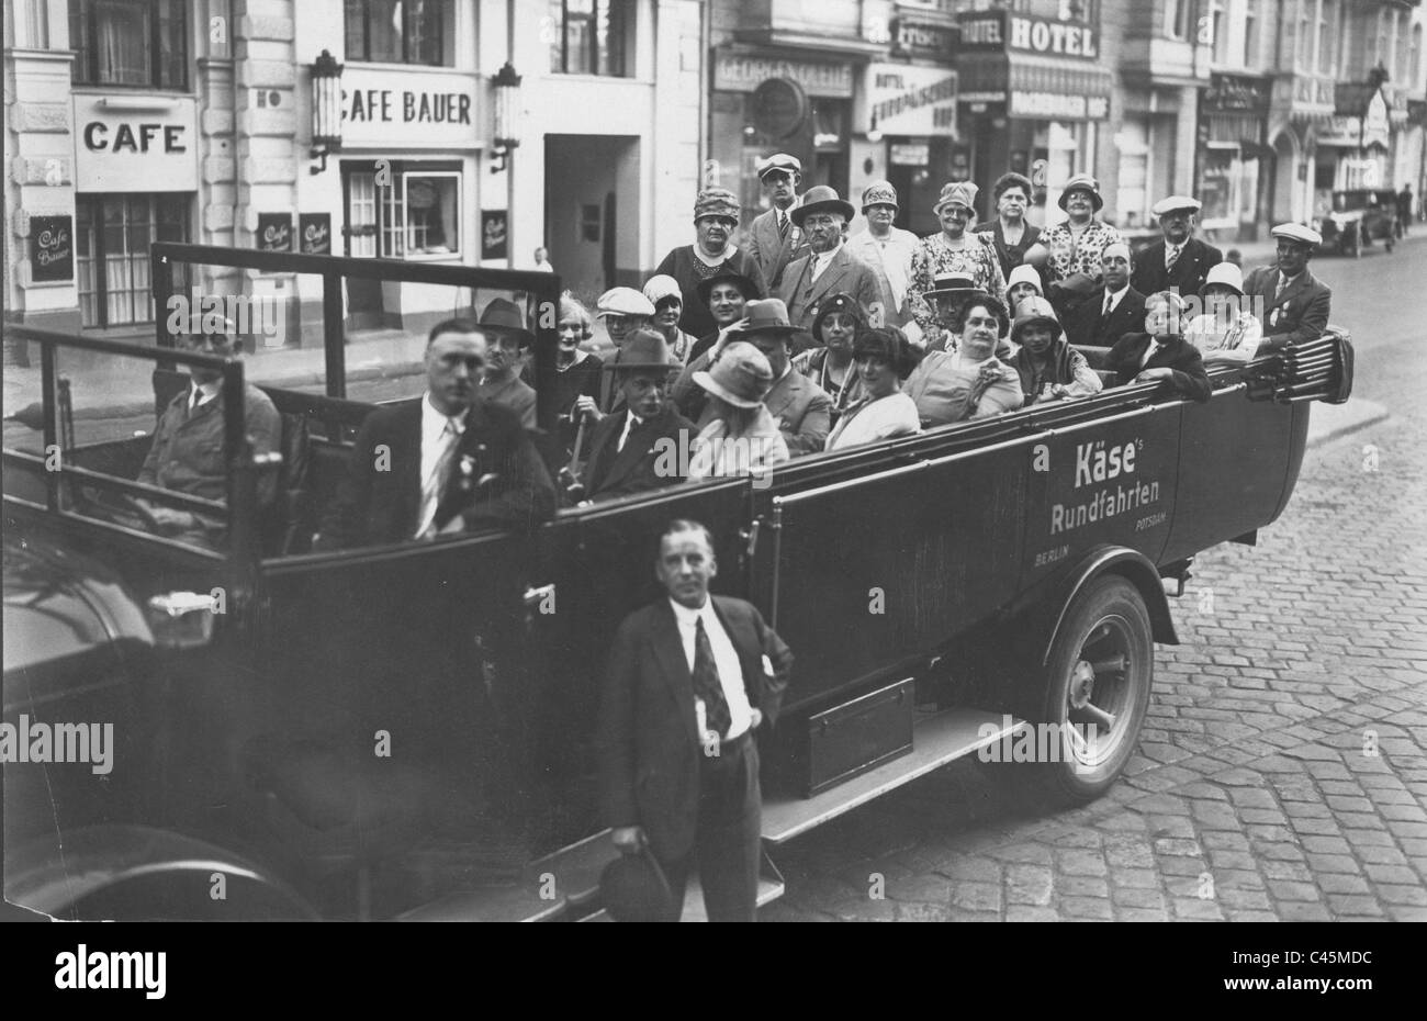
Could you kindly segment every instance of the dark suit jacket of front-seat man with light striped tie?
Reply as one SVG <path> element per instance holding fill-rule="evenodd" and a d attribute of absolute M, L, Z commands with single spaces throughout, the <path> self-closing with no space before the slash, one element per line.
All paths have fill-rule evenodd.
<path fill-rule="evenodd" d="M 421 513 L 421 401 L 380 407 L 362 421 L 347 477 L 323 518 L 323 547 L 415 537 Z M 487 474 L 495 478 L 478 490 L 475 484 Z M 521 420 L 509 408 L 477 400 L 437 504 L 435 527 L 461 515 L 471 531 L 529 528 L 554 514 L 555 487 Z"/>

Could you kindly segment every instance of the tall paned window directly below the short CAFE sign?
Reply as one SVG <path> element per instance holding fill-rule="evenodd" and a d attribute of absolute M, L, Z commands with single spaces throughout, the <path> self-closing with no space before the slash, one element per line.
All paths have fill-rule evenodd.
<path fill-rule="evenodd" d="M 80 323 L 153 323 L 148 247 L 188 240 L 188 196 L 78 196 L 74 214 Z"/>

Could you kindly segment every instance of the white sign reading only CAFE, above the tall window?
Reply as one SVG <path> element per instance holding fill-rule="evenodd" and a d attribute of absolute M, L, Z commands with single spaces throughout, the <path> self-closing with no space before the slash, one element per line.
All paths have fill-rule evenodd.
<path fill-rule="evenodd" d="M 74 181 L 80 191 L 197 191 L 197 100 L 76 94 Z"/>

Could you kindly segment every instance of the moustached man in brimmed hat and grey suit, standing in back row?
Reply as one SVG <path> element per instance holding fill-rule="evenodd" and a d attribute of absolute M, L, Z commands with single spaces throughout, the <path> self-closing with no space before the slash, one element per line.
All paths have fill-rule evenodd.
<path fill-rule="evenodd" d="M 878 271 L 853 256 L 842 240 L 855 213 L 852 203 L 826 184 L 808 188 L 802 204 L 792 211 L 793 226 L 802 228 L 809 251 L 783 270 L 778 297 L 788 306 L 789 321 L 801 330 L 812 330 L 822 303 L 838 293 L 855 297 L 873 323 L 882 321 L 890 304 L 892 296 L 883 293 Z"/>

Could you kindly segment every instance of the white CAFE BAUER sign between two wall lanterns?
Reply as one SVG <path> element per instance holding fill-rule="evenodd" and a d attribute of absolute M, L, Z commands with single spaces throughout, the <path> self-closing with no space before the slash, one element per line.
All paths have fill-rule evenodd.
<path fill-rule="evenodd" d="M 477 76 L 348 66 L 342 74 L 344 149 L 475 149 Z"/>

